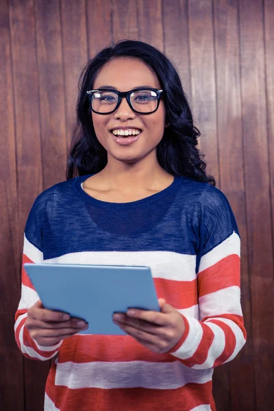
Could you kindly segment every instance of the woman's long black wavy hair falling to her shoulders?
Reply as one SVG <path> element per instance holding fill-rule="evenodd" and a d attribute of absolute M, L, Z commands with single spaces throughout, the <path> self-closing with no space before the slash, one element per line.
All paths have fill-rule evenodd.
<path fill-rule="evenodd" d="M 193 125 L 190 107 L 177 71 L 161 51 L 145 42 L 134 40 L 121 40 L 99 51 L 82 71 L 78 85 L 77 123 L 66 166 L 66 178 L 98 173 L 108 162 L 107 152 L 97 140 L 92 125 L 86 91 L 92 90 L 95 78 L 105 63 L 121 57 L 138 58 L 145 62 L 153 69 L 161 88 L 165 90 L 163 98 L 169 127 L 164 129 L 164 135 L 156 149 L 162 169 L 171 175 L 184 175 L 215 186 L 214 177 L 206 175 L 206 163 L 197 149 L 200 133 Z"/>

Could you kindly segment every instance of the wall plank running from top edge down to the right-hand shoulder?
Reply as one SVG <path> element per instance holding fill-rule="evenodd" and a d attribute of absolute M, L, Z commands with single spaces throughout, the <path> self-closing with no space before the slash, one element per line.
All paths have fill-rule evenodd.
<path fill-rule="evenodd" d="M 188 24 L 192 112 L 201 132 L 199 147 L 206 155 L 207 172 L 219 186 L 212 2 L 189 1 Z"/>

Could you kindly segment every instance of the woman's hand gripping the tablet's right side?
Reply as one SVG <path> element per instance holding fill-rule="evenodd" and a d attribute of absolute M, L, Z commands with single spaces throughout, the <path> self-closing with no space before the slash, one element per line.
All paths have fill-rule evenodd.
<path fill-rule="evenodd" d="M 154 353 L 167 353 L 182 338 L 184 319 L 164 299 L 158 302 L 161 312 L 130 308 L 113 314 L 113 322 Z"/>

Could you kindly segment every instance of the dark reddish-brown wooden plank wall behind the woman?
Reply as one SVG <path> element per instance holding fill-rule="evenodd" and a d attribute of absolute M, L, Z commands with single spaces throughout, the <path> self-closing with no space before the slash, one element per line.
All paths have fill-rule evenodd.
<path fill-rule="evenodd" d="M 219 411 L 273 410 L 274 1 L 0 0 L 0 409 L 42 410 L 49 363 L 14 342 L 23 230 L 36 196 L 64 180 L 77 78 L 121 38 L 175 62 L 208 171 L 242 239 L 248 340 L 214 373 Z"/>

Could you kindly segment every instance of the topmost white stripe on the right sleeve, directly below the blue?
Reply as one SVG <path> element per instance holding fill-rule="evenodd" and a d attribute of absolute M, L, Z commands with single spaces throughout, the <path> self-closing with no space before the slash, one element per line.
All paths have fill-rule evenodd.
<path fill-rule="evenodd" d="M 240 237 L 236 232 L 233 232 L 231 236 L 201 258 L 199 273 L 232 254 L 237 254 L 240 257 Z"/>

